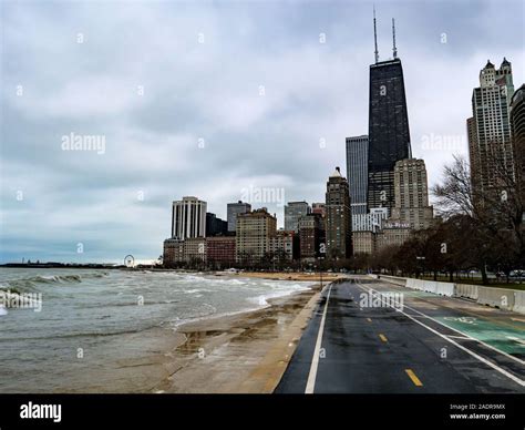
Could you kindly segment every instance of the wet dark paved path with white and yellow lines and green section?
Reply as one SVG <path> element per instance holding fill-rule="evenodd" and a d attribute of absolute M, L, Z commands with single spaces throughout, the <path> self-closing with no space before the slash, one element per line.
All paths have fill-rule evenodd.
<path fill-rule="evenodd" d="M 331 284 L 276 392 L 525 392 L 517 317 L 380 280 Z"/>

